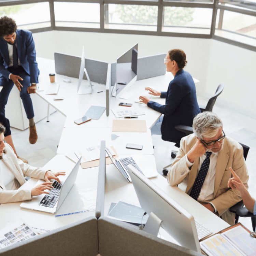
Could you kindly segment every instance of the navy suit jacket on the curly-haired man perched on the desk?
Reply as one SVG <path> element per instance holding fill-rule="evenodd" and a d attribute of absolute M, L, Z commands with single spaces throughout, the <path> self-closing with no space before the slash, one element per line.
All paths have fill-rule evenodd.
<path fill-rule="evenodd" d="M 30 75 L 30 83 L 38 83 L 39 69 L 35 59 L 35 45 L 32 32 L 28 30 L 17 29 L 17 52 L 20 65 Z M 4 76 L 9 81 L 10 72 L 9 51 L 7 42 L 0 38 L 0 77 Z"/>

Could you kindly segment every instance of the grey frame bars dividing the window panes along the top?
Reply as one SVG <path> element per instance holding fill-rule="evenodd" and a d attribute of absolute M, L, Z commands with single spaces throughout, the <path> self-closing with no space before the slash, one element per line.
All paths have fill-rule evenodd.
<path fill-rule="evenodd" d="M 185 38 L 204 38 L 204 39 L 214 39 L 236 45 L 242 48 L 249 49 L 256 52 L 256 46 L 244 44 L 238 41 L 233 41 L 231 39 L 226 39 L 215 35 L 215 25 L 216 25 L 216 15 L 217 11 L 224 10 L 237 12 L 241 14 L 256 16 L 256 11 L 239 9 L 231 6 L 225 6 L 225 4 L 219 4 L 219 0 L 214 0 L 213 3 L 191 3 L 191 2 L 166 2 L 163 0 L 158 1 L 142 1 L 142 0 L 2 0 L 1 6 L 10 6 L 17 4 L 28 4 L 28 3 L 40 3 L 40 2 L 49 2 L 50 17 L 51 17 L 51 27 L 31 29 L 31 32 L 44 32 L 51 30 L 62 30 L 62 31 L 80 31 L 80 32 L 99 32 L 99 33 L 125 33 L 125 34 L 144 34 L 144 35 L 158 35 L 166 37 L 185 37 Z M 83 2 L 83 3 L 99 3 L 100 4 L 100 28 L 79 28 L 79 27 L 58 27 L 55 26 L 55 15 L 54 15 L 54 2 Z M 105 4 L 129 4 L 129 5 L 151 5 L 158 6 L 158 17 L 157 17 L 157 31 L 144 31 L 144 30 L 124 30 L 124 29 L 105 29 L 104 28 L 104 5 Z M 231 3 L 228 3 L 231 5 Z M 165 6 L 174 6 L 174 7 L 190 7 L 190 8 L 207 8 L 212 9 L 212 22 L 210 34 L 194 34 L 194 33 L 176 33 L 176 32 L 163 32 L 163 8 Z M 241 6 L 236 4 L 236 6 L 248 8 L 244 5 Z"/>

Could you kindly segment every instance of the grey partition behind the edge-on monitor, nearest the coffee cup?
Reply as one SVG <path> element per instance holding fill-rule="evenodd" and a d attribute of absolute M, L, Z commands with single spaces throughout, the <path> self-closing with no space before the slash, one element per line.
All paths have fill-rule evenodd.
<path fill-rule="evenodd" d="M 63 53 L 54 53 L 55 71 L 57 74 L 79 78 L 81 57 Z M 99 84 L 106 84 L 108 63 L 85 58 L 85 68 L 90 80 Z M 87 80 L 84 74 L 84 80 Z"/>

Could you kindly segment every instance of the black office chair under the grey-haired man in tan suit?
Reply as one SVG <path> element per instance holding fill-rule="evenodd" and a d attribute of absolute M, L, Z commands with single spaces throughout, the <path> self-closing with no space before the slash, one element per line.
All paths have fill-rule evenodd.
<path fill-rule="evenodd" d="M 240 143 L 243 147 L 244 150 L 244 159 L 246 160 L 246 157 L 248 155 L 248 151 L 250 147 Z M 232 213 L 236 214 L 235 218 L 235 224 L 238 223 L 239 217 L 251 217 L 252 221 L 252 226 L 253 226 L 253 231 L 255 232 L 255 227 L 256 227 L 256 215 L 253 213 L 249 212 L 245 207 L 243 207 L 243 201 L 238 202 L 237 204 L 233 205 L 232 207 L 229 208 L 229 211 Z"/>

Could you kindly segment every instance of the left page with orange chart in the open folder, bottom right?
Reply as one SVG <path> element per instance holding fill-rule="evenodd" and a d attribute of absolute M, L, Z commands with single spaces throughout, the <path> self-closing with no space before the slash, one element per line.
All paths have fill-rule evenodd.
<path fill-rule="evenodd" d="M 221 234 L 205 239 L 200 242 L 200 246 L 209 256 L 245 256 Z"/>

